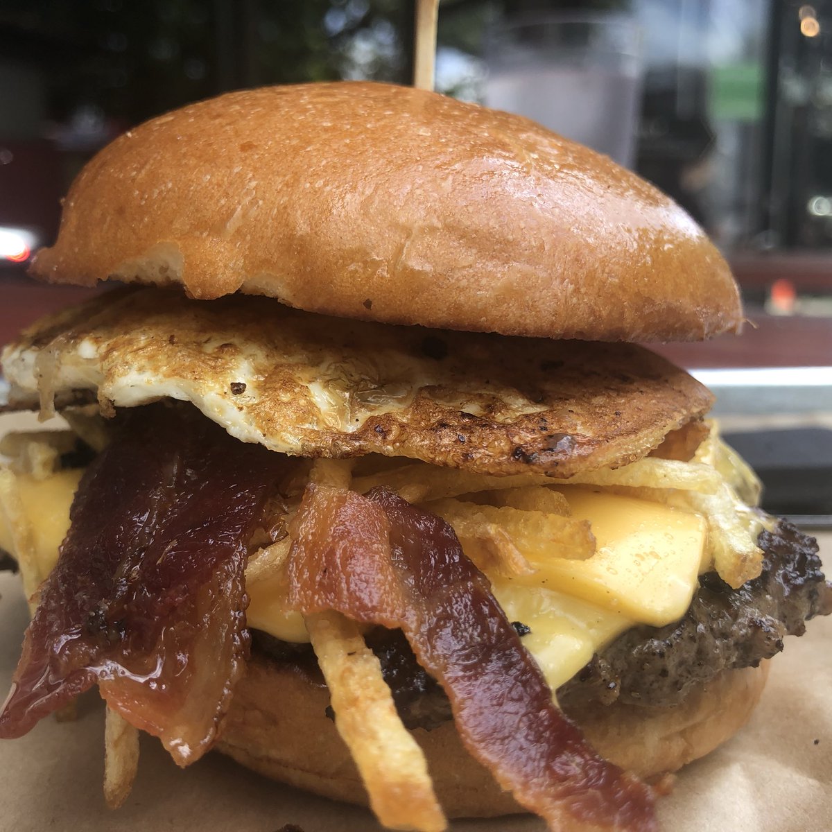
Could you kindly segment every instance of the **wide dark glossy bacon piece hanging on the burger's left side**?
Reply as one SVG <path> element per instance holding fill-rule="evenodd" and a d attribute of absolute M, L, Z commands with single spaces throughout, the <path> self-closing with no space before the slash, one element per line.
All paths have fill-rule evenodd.
<path fill-rule="evenodd" d="M 124 414 L 78 488 L 0 737 L 97 681 L 177 763 L 204 754 L 245 666 L 246 542 L 284 464 L 196 409 Z"/>

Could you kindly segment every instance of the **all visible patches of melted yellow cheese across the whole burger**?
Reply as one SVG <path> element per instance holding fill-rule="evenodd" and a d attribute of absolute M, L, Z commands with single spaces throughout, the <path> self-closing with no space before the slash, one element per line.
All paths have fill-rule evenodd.
<path fill-rule="evenodd" d="M 57 562 L 80 477 L 79 471 L 42 480 L 17 476 L 42 575 Z M 552 691 L 634 624 L 662 626 L 681 618 L 699 572 L 709 566 L 703 563 L 706 525 L 700 516 L 598 489 L 563 488 L 563 493 L 573 515 L 591 522 L 596 554 L 584 561 L 552 558 L 540 586 L 493 577 L 494 595 L 509 620 L 531 628 L 523 644 Z M 14 552 L 2 512 L 0 547 Z M 250 626 L 285 641 L 309 641 L 300 614 L 281 607 L 276 579 L 250 582 L 247 591 Z"/>

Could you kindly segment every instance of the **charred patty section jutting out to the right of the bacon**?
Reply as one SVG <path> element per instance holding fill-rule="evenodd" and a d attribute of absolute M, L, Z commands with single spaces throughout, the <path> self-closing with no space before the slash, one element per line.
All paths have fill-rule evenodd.
<path fill-rule="evenodd" d="M 557 691 L 558 701 L 567 709 L 578 701 L 676 705 L 721 671 L 775 656 L 784 636 L 802 636 L 805 621 L 832 611 L 832 585 L 812 537 L 781 520 L 758 543 L 760 577 L 732 589 L 716 572 L 702 575 L 679 622 L 626 631 Z"/>

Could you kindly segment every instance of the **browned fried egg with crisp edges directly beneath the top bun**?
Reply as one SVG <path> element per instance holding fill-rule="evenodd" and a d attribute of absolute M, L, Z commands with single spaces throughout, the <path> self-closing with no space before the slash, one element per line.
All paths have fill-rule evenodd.
<path fill-rule="evenodd" d="M 557 478 L 617 467 L 701 418 L 711 394 L 634 344 L 339 319 L 275 300 L 116 290 L 4 350 L 13 406 L 179 399 L 243 442 Z"/>

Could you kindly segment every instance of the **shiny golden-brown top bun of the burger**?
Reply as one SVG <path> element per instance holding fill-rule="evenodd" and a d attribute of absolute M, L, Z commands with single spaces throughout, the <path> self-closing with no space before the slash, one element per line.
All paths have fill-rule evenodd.
<path fill-rule="evenodd" d="M 374 83 L 232 92 L 127 131 L 32 274 L 547 338 L 741 323 L 725 260 L 635 174 L 519 116 Z"/>

